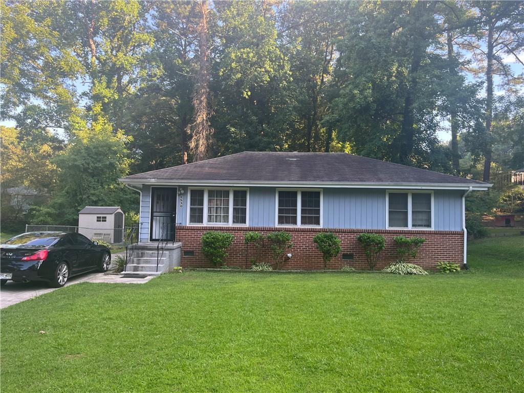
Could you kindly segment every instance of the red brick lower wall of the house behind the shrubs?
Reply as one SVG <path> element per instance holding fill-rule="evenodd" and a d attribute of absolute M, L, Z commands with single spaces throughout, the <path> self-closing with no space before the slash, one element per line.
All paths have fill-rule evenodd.
<path fill-rule="evenodd" d="M 226 265 L 246 266 L 246 246 L 244 244 L 244 233 L 249 231 L 261 232 L 267 235 L 269 232 L 280 231 L 280 228 L 272 227 L 228 227 L 228 226 L 178 226 L 177 241 L 182 242 L 183 267 L 213 267 L 201 252 L 200 239 L 207 231 L 224 231 L 235 236 L 233 245 L 228 250 Z M 398 231 L 398 230 L 356 230 L 356 229 L 328 229 L 328 228 L 285 228 L 291 234 L 293 246 L 289 253 L 293 256 L 284 265 L 283 269 L 289 270 L 318 270 L 323 269 L 322 255 L 315 248 L 313 237 L 319 232 L 333 232 L 342 240 L 342 252 L 328 265 L 329 269 L 338 270 L 343 266 L 352 266 L 356 269 L 368 269 L 365 255 L 361 246 L 356 241 L 356 236 L 363 232 L 373 232 L 384 235 L 386 248 L 380 254 L 380 260 L 376 269 L 382 269 L 395 260 L 393 238 L 399 235 L 420 236 L 426 239 L 420 248 L 417 259 L 413 261 L 425 269 L 434 269 L 438 261 L 450 261 L 463 264 L 464 235 L 460 231 Z M 184 256 L 184 252 L 193 251 L 194 256 Z M 342 259 L 342 254 L 353 254 L 353 260 Z M 249 259 L 255 257 L 255 248 L 250 245 L 247 248 L 247 268 L 250 267 Z M 269 244 L 266 242 L 260 261 L 272 263 Z"/>

